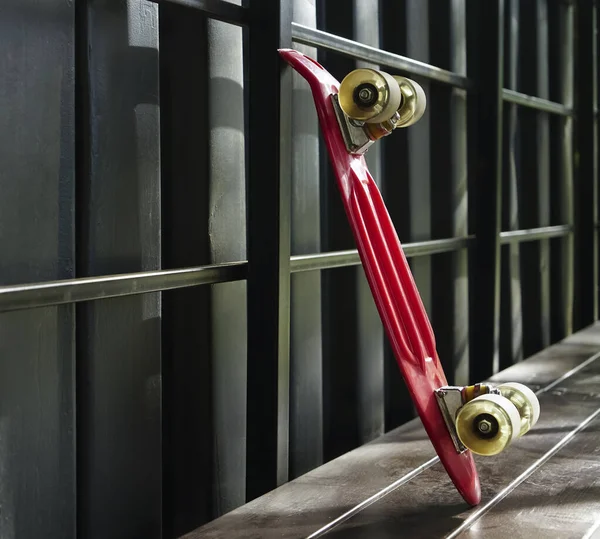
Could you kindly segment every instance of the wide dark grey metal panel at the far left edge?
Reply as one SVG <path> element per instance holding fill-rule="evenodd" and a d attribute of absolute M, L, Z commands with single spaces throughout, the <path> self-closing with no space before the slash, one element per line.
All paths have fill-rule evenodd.
<path fill-rule="evenodd" d="M 0 4 L 0 283 L 73 277 L 74 8 Z M 0 316 L 0 536 L 76 536 L 74 309 Z"/>

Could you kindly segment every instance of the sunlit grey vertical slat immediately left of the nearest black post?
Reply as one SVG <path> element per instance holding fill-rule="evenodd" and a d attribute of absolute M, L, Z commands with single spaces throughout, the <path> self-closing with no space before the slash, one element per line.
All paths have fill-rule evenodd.
<path fill-rule="evenodd" d="M 246 259 L 242 28 L 209 19 L 207 37 L 210 262 L 223 263 Z M 221 515 L 246 499 L 246 282 L 211 287 L 210 309 L 213 493 Z"/>

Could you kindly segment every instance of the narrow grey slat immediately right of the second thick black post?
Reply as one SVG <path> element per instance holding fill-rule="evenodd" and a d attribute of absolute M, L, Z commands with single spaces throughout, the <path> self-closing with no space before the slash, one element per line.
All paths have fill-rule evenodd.
<path fill-rule="evenodd" d="M 507 73 L 504 86 L 512 90 L 519 88 L 518 62 L 519 62 L 519 34 L 520 13 L 519 1 L 510 0 L 507 5 L 508 17 L 505 28 L 508 30 L 508 47 L 506 54 Z M 503 197 L 504 226 L 503 229 L 519 229 L 519 204 L 518 204 L 518 174 L 520 171 L 519 150 L 519 114 L 515 104 L 505 105 L 506 128 L 504 129 L 506 147 L 503 155 L 506 156 L 503 172 L 506 196 Z M 520 246 L 511 243 L 502 249 L 502 267 L 506 272 L 507 293 L 501 295 L 502 321 L 501 334 L 506 339 L 501 339 L 501 367 L 508 367 L 523 359 L 523 317 L 521 307 L 521 269 Z"/>

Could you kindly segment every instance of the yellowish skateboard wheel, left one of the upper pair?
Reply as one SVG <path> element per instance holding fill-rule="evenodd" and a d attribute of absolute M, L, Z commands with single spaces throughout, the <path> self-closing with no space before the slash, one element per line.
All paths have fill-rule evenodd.
<path fill-rule="evenodd" d="M 394 77 L 374 69 L 355 69 L 348 73 L 340 84 L 338 97 L 344 114 L 367 123 L 389 120 L 402 101 Z"/>

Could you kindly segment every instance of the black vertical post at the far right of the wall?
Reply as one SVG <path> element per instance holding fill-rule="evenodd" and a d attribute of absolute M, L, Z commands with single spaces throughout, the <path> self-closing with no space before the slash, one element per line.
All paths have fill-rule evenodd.
<path fill-rule="evenodd" d="M 575 330 L 591 324 L 598 318 L 596 9 L 593 0 L 581 0 L 576 6 Z"/>

